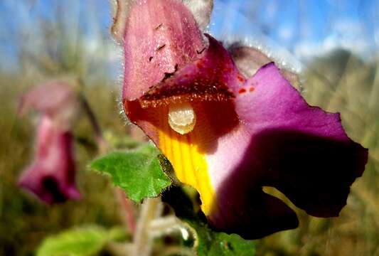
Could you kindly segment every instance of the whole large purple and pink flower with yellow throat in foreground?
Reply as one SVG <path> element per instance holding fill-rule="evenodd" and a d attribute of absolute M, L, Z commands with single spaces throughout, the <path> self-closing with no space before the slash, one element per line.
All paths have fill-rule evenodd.
<path fill-rule="evenodd" d="M 336 216 L 367 150 L 338 114 L 306 104 L 274 63 L 251 78 L 179 0 L 136 1 L 124 25 L 124 110 L 200 193 L 218 230 L 244 238 L 296 228 L 286 204 Z"/>

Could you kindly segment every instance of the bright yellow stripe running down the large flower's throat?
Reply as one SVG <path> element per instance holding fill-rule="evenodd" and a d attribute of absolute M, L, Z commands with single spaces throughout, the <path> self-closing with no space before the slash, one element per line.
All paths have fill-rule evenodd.
<path fill-rule="evenodd" d="M 169 127 L 167 115 L 161 117 L 159 146 L 174 167 L 179 181 L 196 188 L 201 198 L 201 209 L 209 215 L 215 202 L 215 191 L 210 183 L 205 155 L 198 150 L 201 129 L 181 135 Z"/>

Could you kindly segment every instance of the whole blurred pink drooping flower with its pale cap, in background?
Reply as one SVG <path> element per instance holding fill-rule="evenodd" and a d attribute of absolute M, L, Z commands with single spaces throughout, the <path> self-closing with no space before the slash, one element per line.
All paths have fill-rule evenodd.
<path fill-rule="evenodd" d="M 52 82 L 33 88 L 21 100 L 20 111 L 41 112 L 36 136 L 36 155 L 18 184 L 46 203 L 80 198 L 75 186 L 73 135 L 78 98 L 69 85 Z"/>

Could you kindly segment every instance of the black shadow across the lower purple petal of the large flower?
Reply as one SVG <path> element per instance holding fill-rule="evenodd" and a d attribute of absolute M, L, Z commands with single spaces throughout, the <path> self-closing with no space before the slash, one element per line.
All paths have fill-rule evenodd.
<path fill-rule="evenodd" d="M 363 173 L 367 153 L 350 139 L 264 130 L 252 137 L 240 165 L 216 191 L 210 222 L 247 239 L 296 228 L 294 212 L 262 186 L 277 188 L 310 215 L 337 216 Z"/>

